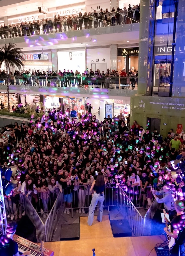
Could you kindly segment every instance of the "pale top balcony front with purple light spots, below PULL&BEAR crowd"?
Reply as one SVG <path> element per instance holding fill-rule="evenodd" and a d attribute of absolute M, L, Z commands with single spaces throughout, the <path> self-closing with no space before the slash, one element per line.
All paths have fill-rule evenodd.
<path fill-rule="evenodd" d="M 40 26 L 42 27 L 42 26 Z M 30 35 L 30 31 L 25 33 L 18 32 L 10 32 L 10 29 L 6 29 L 0 31 L 0 47 L 5 44 L 15 43 L 17 47 L 44 47 L 46 45 L 57 47 L 58 45 L 64 44 L 88 44 L 88 43 L 98 43 L 105 44 L 105 42 L 109 42 L 109 44 L 115 43 L 116 41 L 123 41 L 123 38 L 127 40 L 133 40 L 139 38 L 139 23 L 132 24 L 122 24 L 118 26 L 107 26 L 107 27 L 98 27 L 91 29 L 84 29 L 82 27 L 81 30 L 68 30 L 64 31 L 62 26 L 62 32 L 59 32 L 57 29 L 57 33 L 55 33 L 55 28 L 53 28 L 53 33 L 47 33 L 47 31 L 43 32 L 41 28 L 40 34 Z M 17 31 L 17 30 L 16 30 Z M 113 35 L 114 34 L 114 35 Z"/>

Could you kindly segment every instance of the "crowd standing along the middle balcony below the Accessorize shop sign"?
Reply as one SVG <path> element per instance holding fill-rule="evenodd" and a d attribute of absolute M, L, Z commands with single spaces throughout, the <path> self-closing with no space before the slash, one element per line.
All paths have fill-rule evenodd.
<path fill-rule="evenodd" d="M 78 70 L 59 71 L 39 71 L 34 70 L 30 73 L 28 70 L 19 72 L 15 70 L 14 74 L 10 71 L 8 74 L 10 84 L 14 85 L 26 85 L 31 86 L 55 86 L 55 87 L 82 87 L 84 85 L 92 86 L 92 88 L 109 88 L 114 85 L 116 89 L 125 89 L 130 85 L 132 89 L 138 82 L 138 71 L 132 70 L 125 72 L 125 69 L 118 73 L 118 70 L 110 71 L 107 69 L 106 72 L 95 70 L 95 72 L 88 68 L 84 70 L 82 75 Z M 0 71 L 0 84 L 4 84 L 6 81 L 6 72 Z M 121 84 L 121 85 L 120 85 Z"/>

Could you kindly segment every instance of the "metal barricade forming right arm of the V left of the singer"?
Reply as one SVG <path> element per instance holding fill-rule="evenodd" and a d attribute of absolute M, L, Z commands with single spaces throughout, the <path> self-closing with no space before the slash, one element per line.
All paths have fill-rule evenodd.
<path fill-rule="evenodd" d="M 45 240 L 47 242 L 52 241 L 59 219 L 64 211 L 64 195 L 59 193 L 53 207 L 49 213 L 46 222 L 44 223 Z"/>

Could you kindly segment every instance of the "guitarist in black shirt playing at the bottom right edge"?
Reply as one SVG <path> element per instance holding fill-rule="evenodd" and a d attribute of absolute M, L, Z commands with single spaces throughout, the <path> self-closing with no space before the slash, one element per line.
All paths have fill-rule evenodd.
<path fill-rule="evenodd" d="M 167 235 L 175 238 L 175 245 L 170 250 L 170 256 L 185 256 L 184 243 L 185 243 L 185 214 L 183 213 L 184 204 L 182 201 L 175 202 L 175 211 L 177 215 L 171 221 L 171 232 L 165 227 L 164 231 Z"/>

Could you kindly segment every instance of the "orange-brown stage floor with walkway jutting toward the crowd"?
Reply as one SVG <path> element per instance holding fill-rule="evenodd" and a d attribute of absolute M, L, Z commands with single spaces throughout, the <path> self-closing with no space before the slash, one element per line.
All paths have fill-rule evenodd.
<path fill-rule="evenodd" d="M 80 240 L 56 241 L 44 243 L 44 247 L 54 251 L 54 256 L 92 256 L 95 248 L 96 256 L 148 256 L 157 243 L 163 243 L 166 236 L 139 236 L 114 238 L 109 216 L 103 221 L 87 225 L 88 217 L 80 217 Z M 150 256 L 156 256 L 155 249 Z"/>

